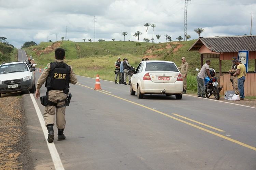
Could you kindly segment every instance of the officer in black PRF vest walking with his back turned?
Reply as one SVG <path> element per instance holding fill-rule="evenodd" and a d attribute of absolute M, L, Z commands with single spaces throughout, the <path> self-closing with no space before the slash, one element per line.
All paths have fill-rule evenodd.
<path fill-rule="evenodd" d="M 58 140 L 66 139 L 66 136 L 63 134 L 66 125 L 65 100 L 69 92 L 69 83 L 77 83 L 77 78 L 72 67 L 68 66 L 63 61 L 65 59 L 64 49 L 57 48 L 55 50 L 55 59 L 54 63 L 49 63 L 44 68 L 44 71 L 38 79 L 37 90 L 35 92 L 35 97 L 38 99 L 40 96 L 39 90 L 44 82 L 46 82 L 45 86 L 47 88 L 46 95 L 48 93 L 48 102 L 44 110 L 44 121 L 49 133 L 47 139 L 49 143 L 54 140 L 53 125 L 55 122 L 55 114 L 58 128 Z"/>

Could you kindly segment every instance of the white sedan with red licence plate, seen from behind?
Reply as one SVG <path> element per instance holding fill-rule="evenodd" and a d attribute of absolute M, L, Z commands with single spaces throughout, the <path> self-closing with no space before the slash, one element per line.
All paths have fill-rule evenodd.
<path fill-rule="evenodd" d="M 182 99 L 182 75 L 173 62 L 142 61 L 131 77 L 130 95 L 137 92 L 138 98 L 144 94 L 175 95 Z"/>

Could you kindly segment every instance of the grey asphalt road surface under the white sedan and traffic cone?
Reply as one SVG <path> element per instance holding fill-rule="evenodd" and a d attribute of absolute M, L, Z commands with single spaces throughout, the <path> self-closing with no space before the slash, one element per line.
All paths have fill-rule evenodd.
<path fill-rule="evenodd" d="M 57 141 L 55 127 L 65 169 L 256 169 L 255 108 L 188 95 L 138 99 L 128 85 L 101 80 L 102 90 L 94 90 L 95 79 L 77 78 L 70 85 L 66 140 Z M 45 92 L 43 86 L 41 96 Z M 28 94 L 23 99 L 31 103 Z M 37 169 L 54 169 L 30 105 L 25 112 L 33 162 Z"/>

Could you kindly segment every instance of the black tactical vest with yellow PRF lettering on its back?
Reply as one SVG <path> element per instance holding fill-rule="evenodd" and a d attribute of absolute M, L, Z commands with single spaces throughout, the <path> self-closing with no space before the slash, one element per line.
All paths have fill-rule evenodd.
<path fill-rule="evenodd" d="M 68 94 L 70 70 L 70 66 L 66 63 L 51 63 L 51 70 L 45 83 L 47 90 L 63 90 L 65 94 Z"/>

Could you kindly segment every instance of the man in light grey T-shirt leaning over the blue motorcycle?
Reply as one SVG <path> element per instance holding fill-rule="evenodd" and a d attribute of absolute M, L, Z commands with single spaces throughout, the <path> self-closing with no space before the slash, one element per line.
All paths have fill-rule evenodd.
<path fill-rule="evenodd" d="M 212 76 L 209 71 L 209 66 L 211 64 L 210 60 L 207 60 L 199 73 L 197 74 L 197 97 L 205 97 L 205 85 L 204 85 L 204 78 L 208 75 L 210 79 L 212 79 Z"/>

